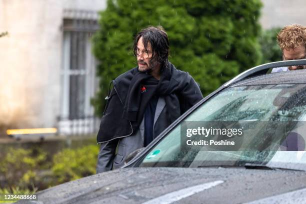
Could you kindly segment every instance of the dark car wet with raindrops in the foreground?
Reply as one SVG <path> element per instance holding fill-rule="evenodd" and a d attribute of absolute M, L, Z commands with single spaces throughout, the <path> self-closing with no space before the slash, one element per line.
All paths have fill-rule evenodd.
<path fill-rule="evenodd" d="M 239 74 L 123 168 L 42 190 L 32 203 L 306 203 L 306 69 L 266 73 L 300 64 Z"/>

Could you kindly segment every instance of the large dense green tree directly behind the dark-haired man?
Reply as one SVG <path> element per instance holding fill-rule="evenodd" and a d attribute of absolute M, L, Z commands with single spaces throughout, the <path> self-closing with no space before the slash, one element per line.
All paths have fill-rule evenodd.
<path fill-rule="evenodd" d="M 169 60 L 188 71 L 204 95 L 261 62 L 260 0 L 107 0 L 93 37 L 99 59 L 99 91 L 92 104 L 101 114 L 109 82 L 136 66 L 133 37 L 161 25 L 170 41 Z"/>

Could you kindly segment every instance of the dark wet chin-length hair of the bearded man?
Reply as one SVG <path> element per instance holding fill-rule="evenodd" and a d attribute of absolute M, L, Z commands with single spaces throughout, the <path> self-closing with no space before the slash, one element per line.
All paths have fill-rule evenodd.
<path fill-rule="evenodd" d="M 169 55 L 169 40 L 168 35 L 164 31 L 162 26 L 149 26 L 142 29 L 135 37 L 133 52 L 137 56 L 137 42 L 142 37 L 142 43 L 146 50 L 148 42 L 152 47 L 152 58 L 151 62 L 158 61 L 162 66 L 167 66 L 168 55 Z M 147 50 L 146 50 L 147 51 Z"/>

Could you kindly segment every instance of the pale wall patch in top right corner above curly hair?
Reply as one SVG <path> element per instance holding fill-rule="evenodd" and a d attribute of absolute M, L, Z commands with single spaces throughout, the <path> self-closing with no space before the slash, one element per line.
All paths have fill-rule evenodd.
<path fill-rule="evenodd" d="M 306 0 L 261 0 L 260 23 L 264 29 L 288 24 L 306 25 Z"/>

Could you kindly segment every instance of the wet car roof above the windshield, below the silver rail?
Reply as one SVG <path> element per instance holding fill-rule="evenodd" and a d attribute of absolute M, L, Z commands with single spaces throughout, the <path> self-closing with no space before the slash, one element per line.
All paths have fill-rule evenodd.
<path fill-rule="evenodd" d="M 283 71 L 283 72 L 269 73 L 269 74 L 249 77 L 233 83 L 231 87 L 242 86 L 242 85 L 300 84 L 300 83 L 306 83 L 306 69 Z"/>

